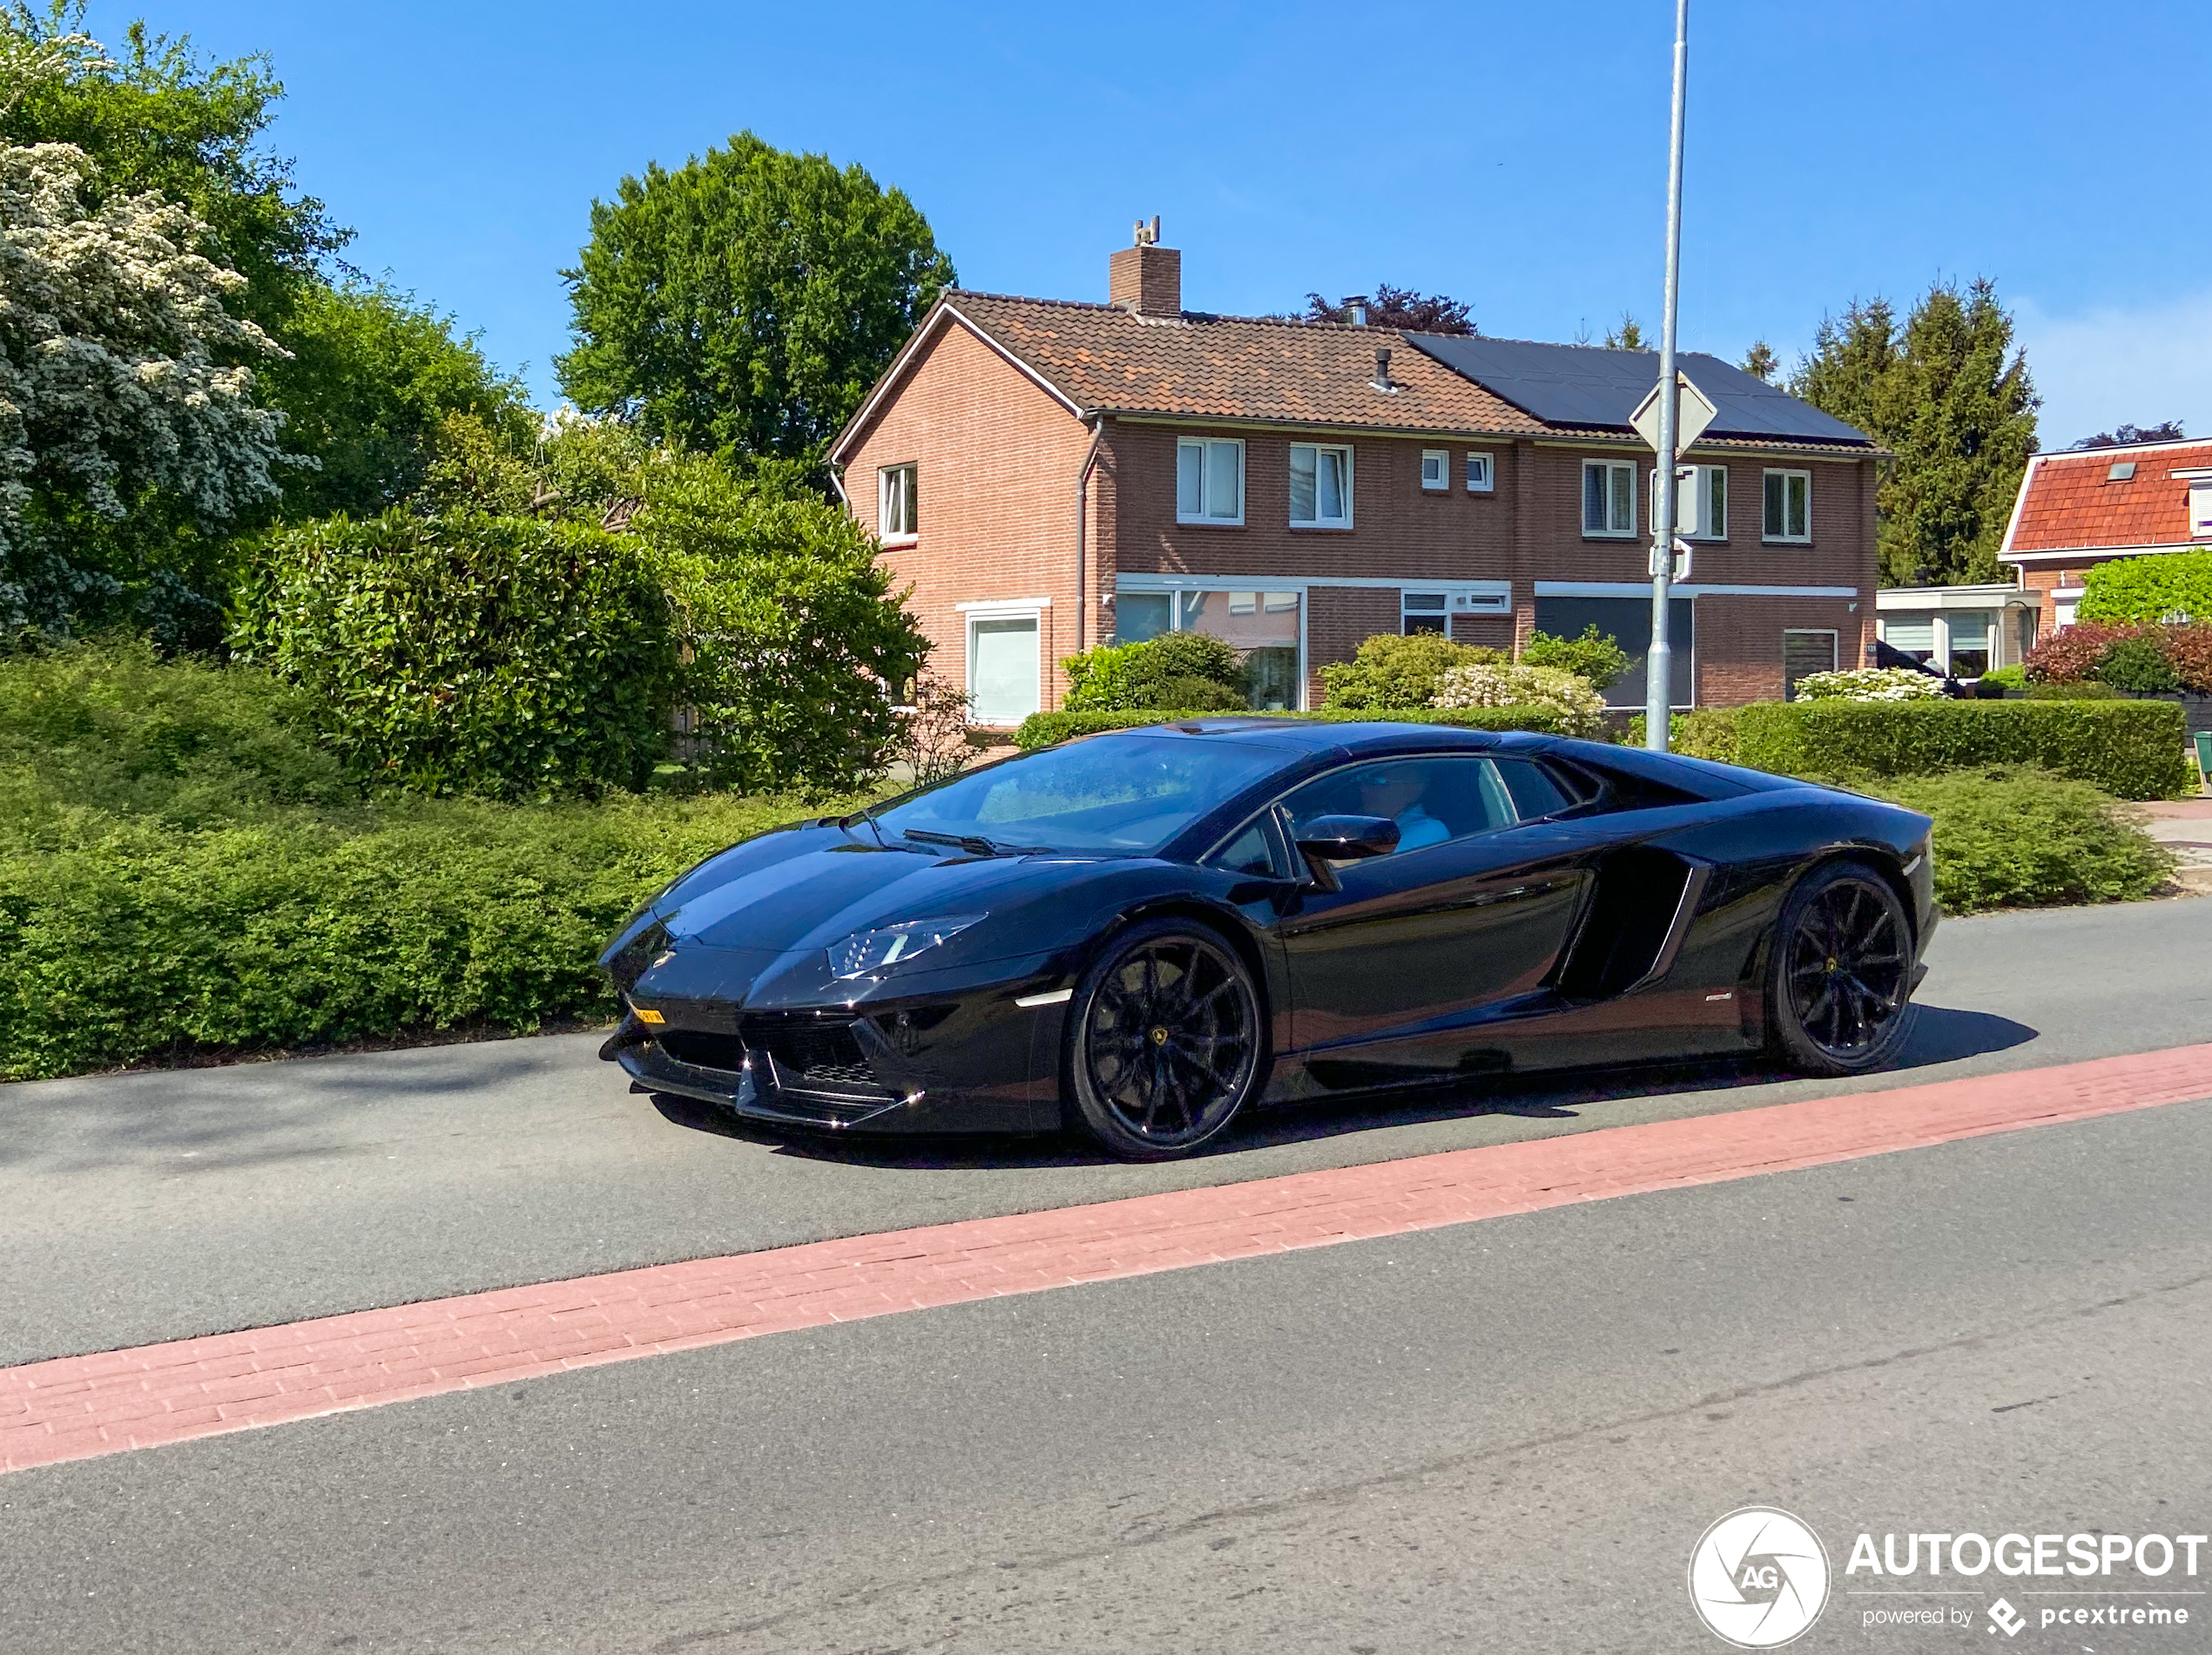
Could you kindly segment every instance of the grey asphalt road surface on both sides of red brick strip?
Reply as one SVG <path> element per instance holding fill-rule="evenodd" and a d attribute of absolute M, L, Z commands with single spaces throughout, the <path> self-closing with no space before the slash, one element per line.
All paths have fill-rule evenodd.
<path fill-rule="evenodd" d="M 2203 1040 L 2208 954 L 2201 903 L 1953 923 L 1922 1064 L 1882 1084 Z M 1814 1091 L 1646 1073 L 1115 1168 L 695 1133 L 577 1040 L 18 1086 L 7 1336 L 20 1361 Z M 1745 1502 L 1838 1569 L 1863 1529 L 2212 1527 L 2208 1166 L 2212 1104 L 2177 1104 L 24 1471 L 0 1651 L 1717 1651 L 1683 1569 Z M 1863 1631 L 1865 1584 L 1794 1648 L 2212 1648 L 2208 1597 L 2172 1600 L 2185 1631 L 1993 1644 Z"/>

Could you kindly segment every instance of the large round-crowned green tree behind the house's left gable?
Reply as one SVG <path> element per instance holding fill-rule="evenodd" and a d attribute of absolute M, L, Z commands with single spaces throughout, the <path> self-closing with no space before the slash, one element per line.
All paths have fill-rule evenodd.
<path fill-rule="evenodd" d="M 562 389 L 661 443 L 812 462 L 953 283 L 920 210 L 752 133 L 591 208 Z"/>

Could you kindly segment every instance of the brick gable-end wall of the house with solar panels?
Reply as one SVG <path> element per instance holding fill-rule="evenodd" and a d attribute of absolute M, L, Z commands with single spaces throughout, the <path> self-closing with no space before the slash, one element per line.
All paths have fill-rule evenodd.
<path fill-rule="evenodd" d="M 958 604 L 1051 597 L 1037 615 L 1040 688 L 1046 708 L 1060 706 L 1060 657 L 1077 633 L 1075 476 L 1088 445 L 1066 407 L 958 323 L 929 343 L 863 434 L 845 491 L 865 527 L 878 527 L 880 467 L 918 467 L 920 535 L 883 555 L 914 584 L 909 604 L 936 646 L 933 673 L 967 681 Z M 1086 631 L 1097 642 L 1095 611 Z"/>

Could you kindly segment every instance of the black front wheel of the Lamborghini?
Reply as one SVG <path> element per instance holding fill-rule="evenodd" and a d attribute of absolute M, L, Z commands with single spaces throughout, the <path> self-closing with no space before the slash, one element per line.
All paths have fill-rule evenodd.
<path fill-rule="evenodd" d="M 1194 925 L 1155 920 L 1115 938 L 1068 1011 L 1075 1115 L 1121 1159 L 1188 1155 L 1259 1091 L 1265 1031 L 1252 974 Z"/>

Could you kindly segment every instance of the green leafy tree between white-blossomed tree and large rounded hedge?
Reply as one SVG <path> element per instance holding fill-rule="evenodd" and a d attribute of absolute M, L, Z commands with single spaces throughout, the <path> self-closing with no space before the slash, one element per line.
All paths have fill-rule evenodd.
<path fill-rule="evenodd" d="M 288 471 L 283 518 L 398 504 L 425 485 L 456 416 L 509 451 L 535 440 L 520 381 L 491 367 L 476 336 L 456 339 L 449 316 L 385 285 L 301 290 L 285 343 L 292 356 L 265 369 L 263 396 L 288 414 L 285 449 L 310 465 Z"/>

